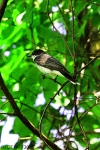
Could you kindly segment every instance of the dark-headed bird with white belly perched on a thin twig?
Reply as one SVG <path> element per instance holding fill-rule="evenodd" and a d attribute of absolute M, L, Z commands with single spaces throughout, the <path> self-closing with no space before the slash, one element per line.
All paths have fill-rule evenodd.
<path fill-rule="evenodd" d="M 70 72 L 55 58 L 48 55 L 41 49 L 34 50 L 29 57 L 33 58 L 34 63 L 44 74 L 56 77 L 57 75 L 67 78 L 73 84 L 79 84 Z"/>

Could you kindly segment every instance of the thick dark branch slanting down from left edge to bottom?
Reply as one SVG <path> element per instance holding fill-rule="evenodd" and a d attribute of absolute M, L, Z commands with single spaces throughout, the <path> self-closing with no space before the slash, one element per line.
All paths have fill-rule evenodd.
<path fill-rule="evenodd" d="M 37 137 L 40 138 L 39 130 L 24 116 L 24 114 L 21 113 L 20 109 L 18 108 L 16 102 L 14 101 L 14 98 L 12 97 L 11 93 L 8 91 L 3 78 L 0 74 L 0 88 L 4 92 L 5 96 L 9 100 L 14 113 L 18 118 L 25 124 L 25 126 L 33 132 Z M 33 118 L 34 119 L 34 118 Z M 45 142 L 49 145 L 51 149 L 61 150 L 57 145 L 55 145 L 53 142 L 51 142 L 45 135 L 42 134 L 42 139 L 45 140 Z"/>

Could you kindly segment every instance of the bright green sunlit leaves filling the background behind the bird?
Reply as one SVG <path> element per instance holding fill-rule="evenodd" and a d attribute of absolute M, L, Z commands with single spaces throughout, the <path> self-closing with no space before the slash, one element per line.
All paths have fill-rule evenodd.
<path fill-rule="evenodd" d="M 27 120 L 36 129 L 41 127 L 60 149 L 100 147 L 99 18 L 99 0 L 9 0 L 0 23 L 0 72 L 6 87 Z M 48 76 L 43 80 L 27 57 L 38 48 L 75 73 L 81 85 L 68 82 L 59 91 L 61 85 L 57 82 Z M 66 79 L 58 77 L 57 81 L 64 84 Z M 22 122 L 4 93 L 0 91 L 0 120 L 6 122 L 5 115 L 15 117 L 11 133 L 20 138 L 14 148 L 22 149 L 30 140 L 31 149 L 49 149 L 43 138 L 40 142 L 39 136 Z M 2 129 L 1 125 L 0 133 Z"/>

